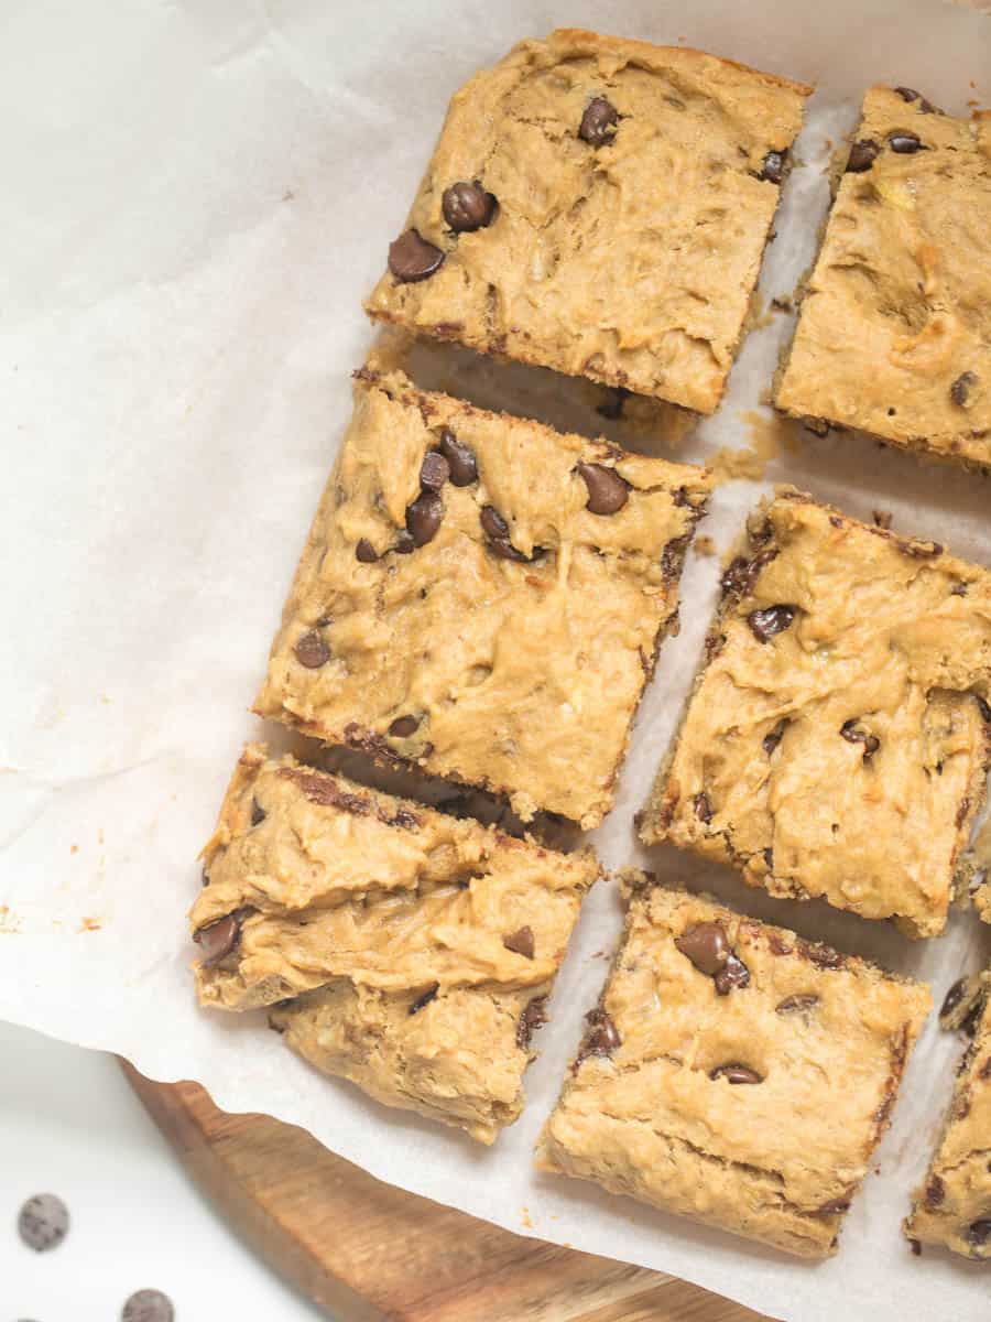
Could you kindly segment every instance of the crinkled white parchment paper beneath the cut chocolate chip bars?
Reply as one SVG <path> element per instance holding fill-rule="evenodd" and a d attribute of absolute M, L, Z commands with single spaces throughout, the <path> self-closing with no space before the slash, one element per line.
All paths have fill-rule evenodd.
<path fill-rule="evenodd" d="M 987 1269 L 900 1236 L 949 1096 L 958 1044 L 930 1025 L 879 1174 L 838 1259 L 790 1261 L 593 1186 L 531 1171 L 618 931 L 614 892 L 585 906 L 527 1077 L 529 1107 L 492 1150 L 320 1079 L 263 1019 L 193 1003 L 185 911 L 289 575 L 349 415 L 382 268 L 451 93 L 515 40 L 597 26 L 708 48 L 815 81 L 762 276 L 788 293 L 827 201 L 821 165 L 873 81 L 951 112 L 988 99 L 991 20 L 937 0 L 90 0 L 8 3 L 0 49 L 7 258 L 0 649 L 0 1014 L 122 1052 L 152 1077 L 197 1079 L 229 1110 L 295 1121 L 375 1175 L 511 1229 L 663 1269 L 789 1322 L 987 1318 Z M 756 435 L 788 317 L 751 334 L 720 414 L 677 455 Z M 624 431 L 548 373 L 424 354 L 424 373 L 488 402 Z M 766 410 L 764 411 L 766 415 Z M 766 439 L 768 424 L 757 428 Z M 769 480 L 991 564 L 986 481 L 856 436 L 794 428 Z M 702 531 L 725 547 L 766 489 L 719 489 Z M 737 906 L 934 982 L 991 953 L 957 915 L 908 943 L 823 906 L 785 904 L 674 851 L 634 846 L 714 603 L 717 561 L 692 555 L 682 633 L 662 653 L 616 810 L 608 866 L 646 862 Z M 788 1117 L 781 1117 L 782 1124 Z"/>

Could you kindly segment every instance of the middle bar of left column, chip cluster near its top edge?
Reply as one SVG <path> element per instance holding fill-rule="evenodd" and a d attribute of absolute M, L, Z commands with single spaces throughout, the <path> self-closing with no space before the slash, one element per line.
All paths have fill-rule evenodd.
<path fill-rule="evenodd" d="M 255 710 L 596 826 L 710 488 L 366 370 Z"/>

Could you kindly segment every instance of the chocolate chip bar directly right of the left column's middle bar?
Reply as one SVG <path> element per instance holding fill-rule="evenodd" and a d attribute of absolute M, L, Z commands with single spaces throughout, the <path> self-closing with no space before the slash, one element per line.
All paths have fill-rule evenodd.
<path fill-rule="evenodd" d="M 782 488 L 725 570 L 641 838 L 936 936 L 973 870 L 990 699 L 991 574 Z"/>

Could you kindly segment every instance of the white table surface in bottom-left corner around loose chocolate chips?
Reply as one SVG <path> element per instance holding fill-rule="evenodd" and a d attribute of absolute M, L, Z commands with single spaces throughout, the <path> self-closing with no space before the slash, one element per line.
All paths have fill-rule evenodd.
<path fill-rule="evenodd" d="M 16 1227 L 41 1192 L 71 1216 L 49 1253 Z M 141 1288 L 176 1322 L 326 1322 L 201 1198 L 112 1058 L 0 1023 L 0 1322 L 118 1322 Z"/>

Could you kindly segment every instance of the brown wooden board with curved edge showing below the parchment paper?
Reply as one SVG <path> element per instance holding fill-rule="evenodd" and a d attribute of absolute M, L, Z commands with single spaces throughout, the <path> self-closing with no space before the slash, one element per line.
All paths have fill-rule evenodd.
<path fill-rule="evenodd" d="M 670 1276 L 526 1239 L 374 1179 L 301 1129 L 122 1062 L 202 1190 L 337 1322 L 768 1322 Z"/>

